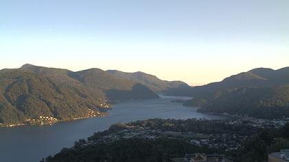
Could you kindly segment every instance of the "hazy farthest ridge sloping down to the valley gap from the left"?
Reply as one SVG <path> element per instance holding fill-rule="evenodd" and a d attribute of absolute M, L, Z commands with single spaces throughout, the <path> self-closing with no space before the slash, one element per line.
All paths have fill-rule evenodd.
<path fill-rule="evenodd" d="M 114 76 L 125 78 L 127 80 L 143 84 L 149 87 L 151 91 L 154 91 L 156 93 L 173 93 L 177 89 L 188 89 L 190 87 L 185 82 L 181 81 L 169 82 L 167 80 L 160 80 L 156 76 L 152 76 L 147 73 L 142 73 L 141 71 L 138 71 L 136 73 L 125 73 L 117 70 L 108 70 L 107 72 L 111 73 Z"/>

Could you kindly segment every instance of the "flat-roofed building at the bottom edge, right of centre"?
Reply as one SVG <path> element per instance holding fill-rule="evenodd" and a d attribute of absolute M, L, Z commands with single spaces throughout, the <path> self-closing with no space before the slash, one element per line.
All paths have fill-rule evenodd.
<path fill-rule="evenodd" d="M 225 159 L 224 154 L 185 154 L 183 158 L 173 158 L 173 162 L 232 162 Z"/>

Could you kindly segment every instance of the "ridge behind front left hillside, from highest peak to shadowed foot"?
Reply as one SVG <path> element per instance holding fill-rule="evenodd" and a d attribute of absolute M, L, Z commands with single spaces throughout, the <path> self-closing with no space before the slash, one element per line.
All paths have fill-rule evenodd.
<path fill-rule="evenodd" d="M 97 97 L 105 97 L 109 100 L 158 98 L 158 95 L 150 91 L 146 86 L 139 85 L 138 82 L 133 82 L 132 80 L 118 78 L 101 69 L 94 68 L 74 72 L 66 69 L 37 67 L 34 65 L 23 65 L 21 69 L 49 77 L 59 84 L 80 87 Z M 142 89 L 136 89 L 136 86 L 142 86 Z M 122 95 L 124 92 L 126 95 Z"/>

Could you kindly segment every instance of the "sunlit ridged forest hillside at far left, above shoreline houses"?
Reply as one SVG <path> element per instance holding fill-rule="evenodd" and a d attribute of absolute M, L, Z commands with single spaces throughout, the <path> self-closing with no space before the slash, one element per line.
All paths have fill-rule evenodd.
<path fill-rule="evenodd" d="M 68 120 L 104 111 L 103 100 L 83 89 L 56 84 L 22 69 L 0 71 L 0 123 L 19 124 L 40 116 Z"/>

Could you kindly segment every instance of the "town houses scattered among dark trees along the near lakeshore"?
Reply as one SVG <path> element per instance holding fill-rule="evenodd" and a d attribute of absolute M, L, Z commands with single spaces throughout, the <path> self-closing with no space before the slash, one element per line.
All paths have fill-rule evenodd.
<path fill-rule="evenodd" d="M 166 121 L 165 119 L 149 119 L 148 121 L 151 122 L 155 120 Z M 241 147 L 244 141 L 250 139 L 250 136 L 259 130 L 264 128 L 281 128 L 288 122 L 286 120 L 255 119 L 253 117 L 216 121 L 206 119 L 189 120 L 195 120 L 191 125 L 192 127 L 196 125 L 195 127 L 199 128 L 184 130 L 184 128 L 178 128 L 178 126 L 176 126 L 177 124 L 167 122 L 159 126 L 150 126 L 149 124 L 140 124 L 138 122 L 114 124 L 105 132 L 95 133 L 81 145 L 85 147 L 94 146 L 98 143 L 111 143 L 121 139 L 158 139 L 167 137 L 169 139 L 181 139 L 195 146 L 234 151 Z M 185 122 L 187 121 L 179 125 L 181 127 L 187 127 L 184 126 L 186 125 Z M 220 128 L 217 128 L 217 126 Z"/>

